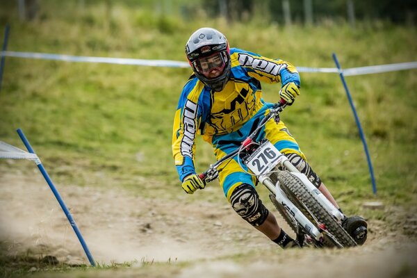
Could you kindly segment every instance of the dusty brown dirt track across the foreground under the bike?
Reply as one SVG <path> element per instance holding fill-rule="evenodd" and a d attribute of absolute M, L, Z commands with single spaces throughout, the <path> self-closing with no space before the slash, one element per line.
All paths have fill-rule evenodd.
<path fill-rule="evenodd" d="M 398 227 L 371 221 L 369 240 L 350 250 L 283 251 L 243 222 L 225 203 L 158 202 L 122 190 L 58 186 L 95 260 L 137 260 L 117 277 L 416 277 L 416 214 L 390 211 Z M 206 188 L 206 190 L 209 190 Z M 0 177 L 0 241 L 10 256 L 53 255 L 63 263 L 88 263 L 47 183 L 33 177 Z M 184 215 L 187 215 L 184 217 Z M 282 221 L 280 221 L 282 222 Z M 404 225 L 408 230 L 404 236 Z M 288 231 L 288 228 L 286 229 Z M 192 231 L 192 232 L 190 232 Z M 28 252 L 28 250 L 30 250 Z M 264 250 L 265 256 L 261 253 Z M 236 254 L 253 259 L 232 259 Z M 247 256 L 245 256 L 247 258 Z M 154 273 L 142 264 L 190 261 L 172 272 Z M 312 267 L 311 265 L 315 265 Z M 108 273 L 108 277 L 115 275 Z M 113 274 L 112 274 L 113 273 Z M 103 273 L 89 277 L 102 277 Z"/>

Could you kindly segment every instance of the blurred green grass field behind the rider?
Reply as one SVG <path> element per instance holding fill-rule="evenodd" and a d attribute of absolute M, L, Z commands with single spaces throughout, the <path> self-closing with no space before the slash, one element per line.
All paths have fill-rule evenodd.
<path fill-rule="evenodd" d="M 417 60 L 416 28 L 384 22 L 359 23 L 355 29 L 333 22 L 283 28 L 260 19 L 230 25 L 203 15 L 186 22 L 118 5 L 110 10 L 87 7 L 74 17 L 53 12 L 44 8 L 39 19 L 22 23 L 0 11 L 2 26 L 8 22 L 11 27 L 8 50 L 184 61 L 190 33 L 213 26 L 231 47 L 296 66 L 334 67 L 333 52 L 345 68 Z M 416 204 L 416 74 L 347 77 L 368 140 L 377 197 L 338 75 L 301 74 L 301 96 L 281 119 L 348 213 L 384 220 L 382 213 L 363 211 L 360 204 L 375 199 L 405 209 Z M 58 184 L 177 199 L 183 190 L 171 157 L 172 120 L 189 75 L 190 69 L 6 58 L 0 140 L 23 148 L 15 132 L 22 128 Z M 278 90 L 264 85 L 264 99 L 277 101 Z M 211 146 L 198 140 L 197 170 L 213 161 Z M 33 167 L 0 161 L 0 174 L 31 172 Z M 213 196 L 202 194 L 190 202 L 213 201 L 209 198 Z"/>

